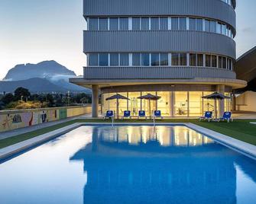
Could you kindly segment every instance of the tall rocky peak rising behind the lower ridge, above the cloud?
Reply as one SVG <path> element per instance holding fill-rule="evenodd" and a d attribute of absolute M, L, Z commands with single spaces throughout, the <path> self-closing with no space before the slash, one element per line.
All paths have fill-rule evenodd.
<path fill-rule="evenodd" d="M 16 65 L 10 69 L 4 81 L 20 81 L 28 78 L 51 78 L 52 76 L 76 76 L 75 72 L 51 60 L 38 64 Z"/>

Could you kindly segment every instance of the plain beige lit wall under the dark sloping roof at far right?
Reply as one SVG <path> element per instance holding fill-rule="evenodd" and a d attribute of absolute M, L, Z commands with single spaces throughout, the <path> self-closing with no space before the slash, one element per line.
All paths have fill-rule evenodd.
<path fill-rule="evenodd" d="M 236 110 L 256 112 L 256 92 L 246 91 L 237 97 Z"/>

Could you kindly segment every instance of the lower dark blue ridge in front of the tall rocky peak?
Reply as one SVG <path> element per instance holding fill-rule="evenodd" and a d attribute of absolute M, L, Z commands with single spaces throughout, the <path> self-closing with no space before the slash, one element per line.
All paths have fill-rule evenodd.
<path fill-rule="evenodd" d="M 21 81 L 0 81 L 0 92 L 14 92 L 16 88 L 27 88 L 31 93 L 67 92 L 44 78 L 29 78 Z"/>

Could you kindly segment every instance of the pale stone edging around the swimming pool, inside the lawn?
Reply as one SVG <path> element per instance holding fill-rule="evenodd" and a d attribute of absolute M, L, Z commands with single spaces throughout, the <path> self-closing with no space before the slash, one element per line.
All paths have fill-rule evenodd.
<path fill-rule="evenodd" d="M 80 126 L 93 126 L 93 125 L 104 125 L 109 126 L 108 123 L 74 123 L 70 126 L 65 126 L 63 128 L 54 130 L 52 132 L 48 132 L 43 135 L 39 135 L 32 139 L 25 140 L 23 142 L 19 142 L 15 145 L 8 146 L 6 148 L 0 149 L 0 161 L 10 158 L 13 155 L 19 154 L 23 151 L 26 151 L 30 148 L 33 148 L 37 145 L 41 145 L 44 142 L 49 141 L 50 139 L 57 138 L 60 135 L 65 134 L 66 132 L 70 132 L 73 129 L 76 129 Z M 118 123 L 115 126 L 152 126 L 151 123 Z M 232 148 L 235 151 L 239 151 L 241 154 L 246 155 L 250 158 L 256 160 L 256 146 L 248 144 L 246 142 L 242 142 L 238 139 L 233 139 L 227 135 L 223 135 L 219 132 L 212 131 L 210 129 L 203 128 L 201 126 L 196 126 L 193 123 L 156 123 L 156 126 L 177 126 L 183 125 L 187 126 L 190 129 L 194 129 L 196 132 L 199 132 L 203 135 L 209 136 L 209 138 L 214 139 L 216 142 L 225 145 L 228 148 Z"/>

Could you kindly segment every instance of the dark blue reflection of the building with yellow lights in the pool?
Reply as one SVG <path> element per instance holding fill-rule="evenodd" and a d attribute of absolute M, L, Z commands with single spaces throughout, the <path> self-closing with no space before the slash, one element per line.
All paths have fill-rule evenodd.
<path fill-rule="evenodd" d="M 185 126 L 94 127 L 84 203 L 236 202 L 234 151 Z"/>

